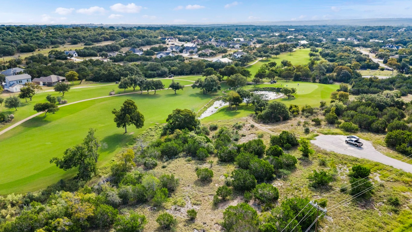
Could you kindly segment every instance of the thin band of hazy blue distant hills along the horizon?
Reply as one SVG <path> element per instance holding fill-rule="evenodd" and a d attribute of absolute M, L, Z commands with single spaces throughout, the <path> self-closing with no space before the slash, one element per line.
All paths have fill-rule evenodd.
<path fill-rule="evenodd" d="M 328 24 L 328 25 L 346 25 L 343 23 L 343 21 L 358 21 L 358 20 L 410 20 L 410 24 L 412 25 L 412 18 L 365 18 L 365 19 L 312 19 L 312 20 L 280 20 L 280 21 L 234 21 L 234 22 L 194 22 L 194 23 L 40 23 L 40 22 L 33 22 L 33 23 L 26 23 L 26 22 L 7 22 L 7 23 L 0 23 L 0 25 L 5 25 L 5 26 L 22 26 L 22 25 L 146 25 L 146 26 L 185 26 L 185 25 L 191 25 L 191 26 L 196 26 L 196 25 L 202 25 L 202 26 L 208 26 L 208 25 L 256 25 L 256 26 L 271 26 L 267 23 L 293 23 L 292 24 L 273 24 L 273 26 L 309 26 L 309 25 L 318 25 L 318 24 L 296 24 L 296 23 L 314 23 L 314 22 L 340 22 L 339 24 Z M 254 24 L 256 23 L 256 24 Z M 262 23 L 265 23 L 265 25 L 260 25 Z M 362 24 L 365 24 L 363 22 Z M 353 24 L 355 25 L 355 24 Z M 382 24 L 382 26 L 386 26 L 386 24 Z"/>

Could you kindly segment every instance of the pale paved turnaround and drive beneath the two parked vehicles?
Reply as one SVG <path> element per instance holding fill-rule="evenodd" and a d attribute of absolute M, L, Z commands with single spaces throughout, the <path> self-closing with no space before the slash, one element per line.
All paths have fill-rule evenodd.
<path fill-rule="evenodd" d="M 357 158 L 369 159 L 412 173 L 411 164 L 383 155 L 381 152 L 375 150 L 370 141 L 361 139 L 363 146 L 356 148 L 353 145 L 345 143 L 345 138 L 346 136 L 343 135 L 320 135 L 316 137 L 316 140 L 311 140 L 311 143 L 328 151 Z"/>

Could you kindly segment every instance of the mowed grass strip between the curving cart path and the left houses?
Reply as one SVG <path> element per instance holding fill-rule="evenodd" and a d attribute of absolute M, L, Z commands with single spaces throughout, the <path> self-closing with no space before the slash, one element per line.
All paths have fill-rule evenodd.
<path fill-rule="evenodd" d="M 172 82 L 171 79 L 166 79 L 166 78 L 161 79 L 161 81 L 163 82 L 165 88 L 168 88 L 169 84 Z M 179 82 L 180 84 L 183 84 L 183 85 L 193 84 L 193 82 L 190 82 L 190 81 L 179 81 Z M 96 87 L 87 87 L 87 86 L 96 86 Z M 76 88 L 76 87 L 87 87 L 87 88 Z M 117 87 L 117 84 L 115 84 L 114 82 L 74 85 L 72 88 L 73 89 L 70 89 L 70 91 L 66 92 L 64 94 L 64 97 L 62 97 L 63 100 L 67 100 L 69 103 L 84 100 L 84 99 L 89 99 L 89 98 L 108 96 L 109 92 L 112 89 L 115 90 L 116 94 L 123 94 L 125 92 L 124 89 L 119 89 Z M 50 87 L 47 87 L 47 89 L 50 89 Z M 136 91 L 139 91 L 139 87 L 136 87 Z M 128 92 L 133 92 L 133 88 L 126 89 L 126 93 Z M 0 106 L 0 112 L 4 112 L 7 115 L 14 114 L 14 120 L 12 121 L 12 123 L 6 124 L 4 127 L 1 127 L 0 130 L 10 127 L 14 123 L 19 122 L 20 120 L 23 120 L 26 117 L 29 117 L 30 115 L 35 114 L 36 111 L 33 110 L 35 103 L 45 102 L 47 94 L 52 94 L 53 96 L 56 96 L 56 97 L 62 96 L 62 94 L 60 94 L 59 92 L 55 92 L 55 91 L 39 92 L 35 96 L 33 96 L 33 101 L 29 101 L 30 99 L 28 99 L 28 103 L 26 103 L 24 99 L 21 99 L 22 105 L 21 107 L 17 108 L 17 111 L 14 110 L 14 108 L 7 109 L 5 108 L 4 104 L 2 104 Z M 10 94 L 1 94 L 0 96 L 3 98 L 6 98 L 10 96 Z"/>

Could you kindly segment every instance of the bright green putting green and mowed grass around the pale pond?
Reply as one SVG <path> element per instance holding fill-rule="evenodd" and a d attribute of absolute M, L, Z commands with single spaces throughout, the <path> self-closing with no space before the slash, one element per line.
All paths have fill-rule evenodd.
<path fill-rule="evenodd" d="M 297 85 L 299 84 L 299 86 Z M 286 87 L 296 88 L 297 94 L 295 98 L 279 98 L 272 101 L 280 101 L 286 105 L 295 104 L 300 107 L 304 105 L 310 105 L 312 107 L 319 107 L 321 101 L 326 101 L 329 103 L 330 93 L 336 91 L 339 88 L 339 84 L 319 84 L 310 82 L 285 82 L 283 80 L 278 81 L 276 84 L 258 84 L 256 87 Z M 248 87 L 251 88 L 251 87 Z M 218 120 L 227 120 L 233 117 L 246 117 L 255 111 L 253 105 L 246 106 L 242 103 L 238 110 L 230 110 L 229 106 L 224 106 L 218 110 L 218 112 L 213 115 L 202 119 L 202 122 L 214 122 Z"/>

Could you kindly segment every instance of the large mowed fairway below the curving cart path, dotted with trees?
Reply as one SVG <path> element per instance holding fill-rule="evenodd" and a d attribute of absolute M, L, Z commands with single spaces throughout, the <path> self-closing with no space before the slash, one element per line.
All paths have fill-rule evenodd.
<path fill-rule="evenodd" d="M 225 88 L 227 86 L 222 84 L 222 89 Z M 74 176 L 76 170 L 62 171 L 49 160 L 55 156 L 62 157 L 64 150 L 81 143 L 89 128 L 96 128 L 96 135 L 108 144 L 107 149 L 99 151 L 100 166 L 131 141 L 133 133 L 164 123 L 172 110 L 187 108 L 197 111 L 211 98 L 221 95 L 221 92 L 204 95 L 199 89 L 185 87 L 178 94 L 169 89 L 156 94 L 143 92 L 113 96 L 67 105 L 47 117 L 39 115 L 0 135 L 0 147 L 4 148 L 0 163 L 0 194 L 34 191 Z M 145 126 L 141 129 L 130 126 L 128 134 L 115 126 L 112 115 L 113 108 L 119 109 L 126 99 L 135 101 L 145 116 Z"/>

